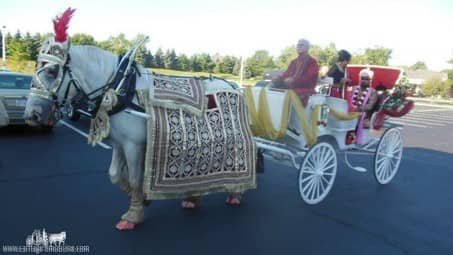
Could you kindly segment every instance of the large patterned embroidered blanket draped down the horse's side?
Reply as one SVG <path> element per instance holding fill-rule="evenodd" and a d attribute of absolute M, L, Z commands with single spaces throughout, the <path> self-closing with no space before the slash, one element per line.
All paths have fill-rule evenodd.
<path fill-rule="evenodd" d="M 139 91 L 148 120 L 143 189 L 147 199 L 171 199 L 256 187 L 256 145 L 243 96 L 213 94 L 216 107 L 197 117 L 153 106 Z"/>

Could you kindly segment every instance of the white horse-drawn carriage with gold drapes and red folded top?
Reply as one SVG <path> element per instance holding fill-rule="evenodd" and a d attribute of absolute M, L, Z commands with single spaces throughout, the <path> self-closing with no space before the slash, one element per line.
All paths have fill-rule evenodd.
<path fill-rule="evenodd" d="M 356 69 L 359 70 L 363 68 L 370 67 L 356 66 Z M 387 67 L 371 68 L 390 69 Z M 398 71 L 396 78 L 395 70 Z M 375 76 L 374 80 L 376 81 L 378 78 L 377 82 L 380 85 L 384 81 L 386 82 L 385 87 L 391 88 L 400 73 L 398 69 L 392 69 L 391 72 L 393 76 L 390 78 L 385 77 L 379 80 Z M 377 74 L 382 76 L 388 72 L 380 73 L 378 71 Z M 357 115 L 350 116 L 346 100 L 328 96 L 328 93 L 315 94 L 310 97 L 307 106 L 302 108 L 304 112 L 302 115 L 305 116 L 302 116 L 301 112 L 298 113 L 295 106 L 291 106 L 289 107 L 289 117 L 286 117 L 285 107 L 288 102 L 285 101 L 287 100 L 285 97 L 287 93 L 290 92 L 272 88 L 252 88 L 248 91 L 246 98 L 249 101 L 249 108 L 253 108 L 250 107 L 252 102 L 255 106 L 255 109 L 249 109 L 252 110 L 251 115 L 253 115 L 253 111 L 259 111 L 259 114 L 265 115 L 268 112 L 267 125 L 271 125 L 272 130 L 286 127 L 284 135 L 279 138 L 255 137 L 259 148 L 258 161 L 263 162 L 264 158 L 273 158 L 298 169 L 298 188 L 301 198 L 306 203 L 317 204 L 327 196 L 337 175 L 339 154 L 344 154 L 348 167 L 359 172 L 365 172 L 366 169 L 352 166 L 348 160 L 348 154 L 372 155 L 373 172 L 377 182 L 387 184 L 393 179 L 398 171 L 403 152 L 401 126 L 385 123 L 379 129 L 374 129 L 375 118 L 371 118 L 371 127 L 362 129 L 361 143 L 351 142 L 348 141 L 348 136 L 354 134 L 358 128 L 358 118 Z M 250 98 L 253 98 L 253 101 L 250 101 Z M 263 101 L 267 101 L 268 107 Z M 301 117 L 306 119 L 305 123 L 301 121 Z M 288 120 L 287 125 L 286 120 Z M 253 127 L 257 124 L 254 122 L 260 121 L 256 119 L 256 116 L 255 118 L 252 116 L 251 122 Z M 266 128 L 269 127 L 264 127 L 264 129 Z M 315 137 L 310 137 L 310 135 Z"/>

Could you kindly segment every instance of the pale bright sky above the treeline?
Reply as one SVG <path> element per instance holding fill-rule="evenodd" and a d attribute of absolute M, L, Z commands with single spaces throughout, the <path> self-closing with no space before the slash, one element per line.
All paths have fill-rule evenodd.
<path fill-rule="evenodd" d="M 278 56 L 307 38 L 353 54 L 390 48 L 390 65 L 452 67 L 452 0 L 2 0 L 0 26 L 10 33 L 49 33 L 51 20 L 67 7 L 76 9 L 70 35 L 101 41 L 145 34 L 153 53 L 161 47 L 188 55 L 267 50 Z"/>

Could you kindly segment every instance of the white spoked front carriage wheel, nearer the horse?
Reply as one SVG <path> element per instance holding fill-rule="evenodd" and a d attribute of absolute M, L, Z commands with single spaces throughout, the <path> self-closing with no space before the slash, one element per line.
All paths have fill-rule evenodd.
<path fill-rule="evenodd" d="M 299 168 L 299 192 L 307 204 L 321 202 L 329 193 L 337 174 L 337 154 L 332 145 L 313 146 Z"/>

